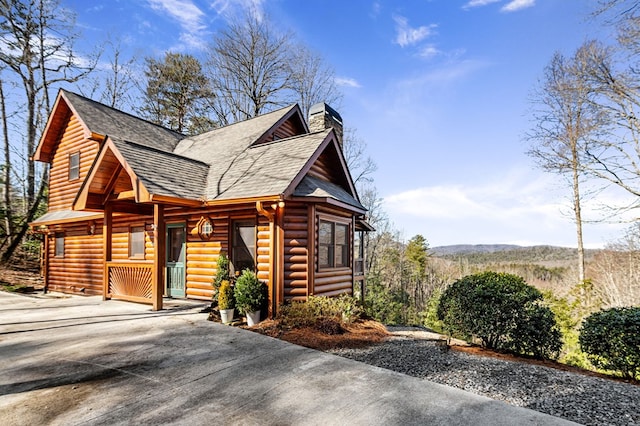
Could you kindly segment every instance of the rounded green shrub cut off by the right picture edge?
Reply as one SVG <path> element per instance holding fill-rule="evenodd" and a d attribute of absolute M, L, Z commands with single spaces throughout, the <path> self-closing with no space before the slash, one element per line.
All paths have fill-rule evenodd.
<path fill-rule="evenodd" d="M 594 366 L 640 379 L 640 307 L 610 308 L 589 315 L 578 339 Z"/>

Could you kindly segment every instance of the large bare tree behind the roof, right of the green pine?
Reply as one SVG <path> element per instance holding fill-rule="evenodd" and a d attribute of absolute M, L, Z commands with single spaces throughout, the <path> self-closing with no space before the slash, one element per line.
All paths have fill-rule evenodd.
<path fill-rule="evenodd" d="M 266 19 L 247 16 L 214 39 L 207 68 L 222 125 L 284 106 L 291 88 L 290 34 L 276 34 Z"/>

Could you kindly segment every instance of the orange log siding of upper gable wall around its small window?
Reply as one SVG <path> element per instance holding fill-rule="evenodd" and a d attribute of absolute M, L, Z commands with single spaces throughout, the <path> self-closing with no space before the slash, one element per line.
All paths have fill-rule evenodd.
<path fill-rule="evenodd" d="M 84 138 L 82 126 L 71 115 L 51 160 L 49 176 L 49 211 L 71 209 L 80 185 L 98 153 L 98 142 Z M 69 154 L 80 152 L 80 178 L 69 180 Z"/>

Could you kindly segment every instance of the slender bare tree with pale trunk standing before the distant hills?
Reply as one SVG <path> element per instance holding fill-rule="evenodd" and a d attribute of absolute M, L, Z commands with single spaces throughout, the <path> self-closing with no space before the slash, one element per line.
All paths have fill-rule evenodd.
<path fill-rule="evenodd" d="M 572 58 L 556 53 L 545 69 L 534 94 L 534 128 L 528 139 L 528 154 L 548 172 L 569 179 L 578 244 L 578 276 L 585 279 L 582 237 L 584 150 L 589 138 L 602 131 L 606 120 L 593 103 L 593 93 L 584 80 L 592 43 L 585 43 Z"/>

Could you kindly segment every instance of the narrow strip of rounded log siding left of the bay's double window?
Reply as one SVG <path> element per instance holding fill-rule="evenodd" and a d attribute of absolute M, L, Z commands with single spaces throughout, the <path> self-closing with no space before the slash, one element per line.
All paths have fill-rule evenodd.
<path fill-rule="evenodd" d="M 284 298 L 306 300 L 309 287 L 309 231 L 306 205 L 285 207 L 284 216 Z"/>

